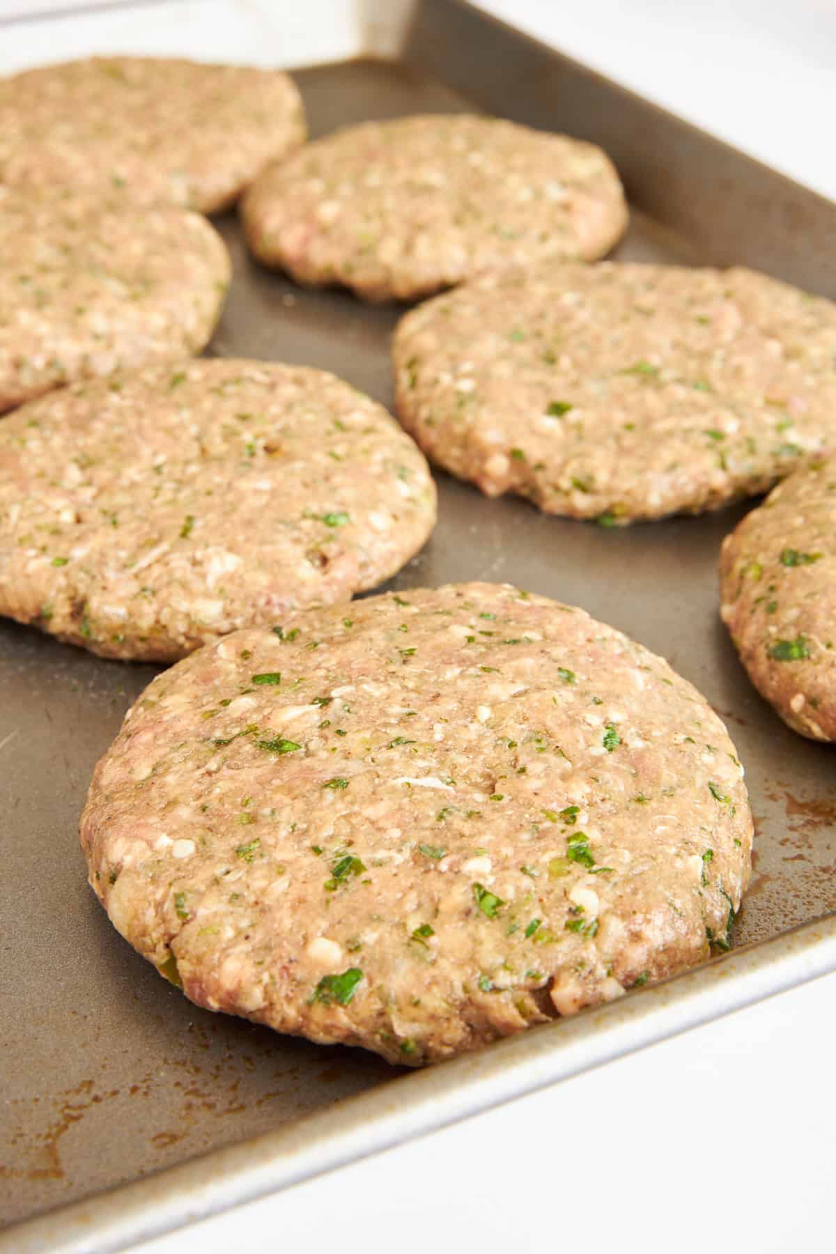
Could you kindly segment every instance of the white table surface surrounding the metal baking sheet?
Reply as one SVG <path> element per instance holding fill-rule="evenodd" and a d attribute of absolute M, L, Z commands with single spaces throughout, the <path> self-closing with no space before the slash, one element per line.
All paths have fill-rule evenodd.
<path fill-rule="evenodd" d="M 0 0 L 0 19 L 36 6 Z M 243 0 L 234 29 L 216 0 L 175 8 L 175 21 L 169 6 L 144 10 L 135 36 L 125 6 L 113 46 L 175 51 L 170 41 L 198 20 L 207 48 L 256 59 L 264 49 L 248 9 L 268 10 L 274 30 L 313 15 L 311 59 L 347 38 L 337 29 L 346 6 L 328 0 Z M 836 0 L 483 8 L 836 198 Z M 74 55 L 78 20 L 50 25 L 49 55 L 33 59 Z M 14 33 L 0 26 L 8 68 L 29 59 Z M 835 1003 L 836 974 L 143 1245 L 143 1254 L 832 1249 Z"/>

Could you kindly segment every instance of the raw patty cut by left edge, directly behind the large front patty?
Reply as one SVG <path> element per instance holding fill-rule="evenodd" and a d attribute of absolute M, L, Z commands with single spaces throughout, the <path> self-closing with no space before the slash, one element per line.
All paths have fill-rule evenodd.
<path fill-rule="evenodd" d="M 104 657 L 348 601 L 434 522 L 421 453 L 321 370 L 183 361 L 0 423 L 0 613 Z"/>

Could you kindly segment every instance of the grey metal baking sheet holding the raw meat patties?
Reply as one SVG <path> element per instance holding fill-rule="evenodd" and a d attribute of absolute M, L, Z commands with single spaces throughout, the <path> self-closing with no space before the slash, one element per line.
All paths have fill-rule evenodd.
<path fill-rule="evenodd" d="M 746 261 L 836 296 L 836 206 L 466 4 L 419 4 L 399 61 L 297 78 L 313 134 L 480 108 L 595 139 L 633 202 L 617 256 Z M 234 282 L 209 351 L 325 366 L 391 406 L 399 311 L 301 291 L 248 260 L 234 217 L 218 224 Z M 93 765 L 155 668 L 0 621 L 0 1216 L 15 1225 L 1 1249 L 124 1248 L 836 966 L 832 918 L 785 935 L 836 910 L 833 751 L 761 701 L 717 616 L 718 545 L 746 507 L 605 530 L 439 487 L 439 525 L 392 587 L 509 579 L 579 603 L 666 656 L 727 721 L 757 824 L 736 924 L 751 948 L 422 1075 L 198 1009 L 110 927 L 76 840 Z"/>

